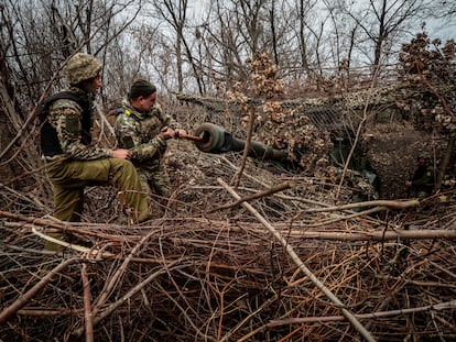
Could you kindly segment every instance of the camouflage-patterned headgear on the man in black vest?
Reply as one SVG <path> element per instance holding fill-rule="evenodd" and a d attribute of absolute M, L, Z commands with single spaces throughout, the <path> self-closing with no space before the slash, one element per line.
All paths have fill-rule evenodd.
<path fill-rule="evenodd" d="M 101 64 L 93 55 L 77 53 L 65 66 L 65 75 L 70 85 L 96 77 L 101 71 Z"/>

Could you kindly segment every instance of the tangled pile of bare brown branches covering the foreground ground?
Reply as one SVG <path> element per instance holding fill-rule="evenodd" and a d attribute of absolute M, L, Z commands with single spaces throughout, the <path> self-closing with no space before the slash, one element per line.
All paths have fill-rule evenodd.
<path fill-rule="evenodd" d="M 166 207 L 154 200 L 158 218 L 143 225 L 99 210 L 98 199 L 115 200 L 104 188 L 89 189 L 87 219 L 73 225 L 52 220 L 28 194 L 1 189 L 15 199 L 0 221 L 3 340 L 361 340 L 289 249 L 374 339 L 456 335 L 450 208 L 433 200 L 332 206 L 324 198 L 330 181 L 305 177 L 254 197 L 292 175 L 250 161 L 236 191 L 253 198 L 285 249 L 240 202 L 211 211 L 236 202 L 217 179 L 230 181 L 238 156 L 180 147 L 169 159 L 174 196 Z M 41 234 L 52 229 L 72 243 L 63 255 L 42 251 Z"/>

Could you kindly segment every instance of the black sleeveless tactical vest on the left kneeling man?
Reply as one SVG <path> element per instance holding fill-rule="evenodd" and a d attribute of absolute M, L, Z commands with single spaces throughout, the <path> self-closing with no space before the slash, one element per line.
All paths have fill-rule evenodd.
<path fill-rule="evenodd" d="M 47 115 L 50 112 L 50 107 L 54 101 L 68 99 L 75 101 L 83 108 L 83 132 L 82 132 L 82 143 L 85 145 L 90 144 L 91 135 L 91 110 L 90 103 L 83 98 L 80 98 L 77 93 L 72 91 L 62 91 L 50 96 L 43 103 L 41 112 L 39 114 L 40 122 L 41 122 L 41 150 L 45 156 L 54 156 L 57 154 L 63 154 L 61 143 L 58 141 L 57 131 L 55 128 L 47 120 Z"/>

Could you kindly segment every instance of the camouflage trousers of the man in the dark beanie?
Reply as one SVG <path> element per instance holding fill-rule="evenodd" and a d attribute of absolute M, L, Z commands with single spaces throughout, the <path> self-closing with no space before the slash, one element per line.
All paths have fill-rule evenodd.
<path fill-rule="evenodd" d="M 140 176 L 142 189 L 145 194 L 158 195 L 170 198 L 172 195 L 170 176 L 167 175 L 166 168 L 161 164 L 153 168 L 144 168 L 141 166 L 137 167 Z"/>

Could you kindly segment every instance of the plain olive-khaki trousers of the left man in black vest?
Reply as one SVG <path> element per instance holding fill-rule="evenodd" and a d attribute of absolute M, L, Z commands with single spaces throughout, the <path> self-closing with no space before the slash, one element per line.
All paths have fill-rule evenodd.
<path fill-rule="evenodd" d="M 124 195 L 129 219 L 141 222 L 151 217 L 148 199 L 131 162 L 119 158 L 96 161 L 51 162 L 46 176 L 54 189 L 54 217 L 77 222 L 84 206 L 84 187 L 112 185 Z M 58 236 L 57 236 L 58 238 Z M 54 250 L 55 244 L 45 246 Z"/>

